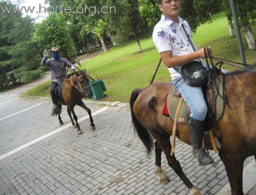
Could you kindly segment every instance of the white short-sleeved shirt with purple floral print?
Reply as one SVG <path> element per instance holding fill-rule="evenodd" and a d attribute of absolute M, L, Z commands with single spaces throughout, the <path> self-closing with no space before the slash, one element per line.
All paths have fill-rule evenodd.
<path fill-rule="evenodd" d="M 161 20 L 156 24 L 152 35 L 159 53 L 171 50 L 172 56 L 180 56 L 194 52 L 193 47 L 190 45 L 188 37 L 183 30 L 182 24 L 191 38 L 191 29 L 187 21 L 179 16 L 179 24 L 177 24 L 162 14 Z M 192 43 L 194 44 L 193 40 Z M 195 44 L 194 47 L 196 48 Z M 204 65 L 202 59 L 200 60 Z M 197 61 L 199 61 L 199 59 L 197 59 Z M 181 66 L 176 68 L 180 70 Z M 173 68 L 168 68 L 168 70 L 171 73 L 172 80 L 181 76 L 180 73 Z"/>

